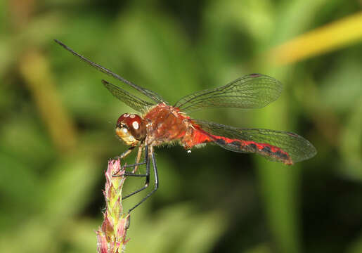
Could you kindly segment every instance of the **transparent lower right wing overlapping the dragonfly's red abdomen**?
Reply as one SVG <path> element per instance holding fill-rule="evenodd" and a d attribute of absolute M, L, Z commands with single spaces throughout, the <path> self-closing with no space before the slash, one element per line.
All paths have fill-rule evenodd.
<path fill-rule="evenodd" d="M 258 153 L 279 162 L 285 162 L 282 158 L 283 154 L 287 153 L 292 163 L 307 160 L 317 153 L 316 148 L 305 138 L 287 131 L 243 129 L 199 119 L 193 121 L 204 131 L 214 135 L 214 143 L 234 152 Z M 217 136 L 226 138 L 217 138 Z"/>

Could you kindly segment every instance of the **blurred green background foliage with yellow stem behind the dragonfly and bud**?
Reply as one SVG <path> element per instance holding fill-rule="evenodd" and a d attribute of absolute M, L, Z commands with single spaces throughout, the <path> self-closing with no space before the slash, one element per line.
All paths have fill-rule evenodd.
<path fill-rule="evenodd" d="M 53 39 L 170 103 L 271 75 L 284 90 L 268 107 L 192 116 L 294 131 L 318 150 L 287 167 L 213 145 L 157 148 L 160 190 L 132 213 L 127 252 L 362 252 L 361 7 L 1 1 L 0 252 L 96 252 L 103 171 L 127 148 L 115 121 L 134 111 L 101 79 L 124 85 Z M 127 179 L 124 191 L 142 183 Z"/>

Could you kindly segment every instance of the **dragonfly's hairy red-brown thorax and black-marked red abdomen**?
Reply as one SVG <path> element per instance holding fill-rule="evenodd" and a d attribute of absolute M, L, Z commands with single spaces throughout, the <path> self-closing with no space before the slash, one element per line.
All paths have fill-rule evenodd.
<path fill-rule="evenodd" d="M 290 155 L 282 148 L 268 143 L 228 138 L 211 134 L 202 129 L 190 117 L 180 112 L 178 108 L 158 104 L 151 108 L 143 119 L 146 120 L 148 145 L 161 145 L 169 141 L 179 140 L 186 149 L 202 143 L 215 143 L 226 150 L 240 153 L 257 153 L 271 160 L 285 164 L 293 164 Z"/>

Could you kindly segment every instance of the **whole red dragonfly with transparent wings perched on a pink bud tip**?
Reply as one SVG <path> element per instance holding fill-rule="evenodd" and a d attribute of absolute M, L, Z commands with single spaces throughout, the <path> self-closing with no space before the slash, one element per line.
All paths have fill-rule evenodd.
<path fill-rule="evenodd" d="M 309 141 L 292 132 L 237 128 L 193 119 L 188 116 L 190 112 L 207 108 L 263 108 L 276 100 L 283 89 L 283 85 L 273 77 L 264 74 L 247 74 L 224 86 L 205 89 L 184 96 L 174 105 L 170 105 L 155 91 L 129 82 L 111 70 L 93 63 L 62 42 L 56 39 L 55 41 L 80 60 L 136 89 L 150 100 L 138 98 L 120 86 L 102 79 L 103 85 L 113 96 L 141 113 L 141 115 L 124 113 L 120 115 L 115 125 L 117 136 L 129 145 L 129 148 L 116 158 L 122 160 L 138 147 L 136 162 L 122 167 L 122 169 L 127 167 L 134 169 L 122 174 L 122 176 L 137 176 L 146 179 L 143 187 L 124 196 L 123 199 L 148 188 L 151 163 L 153 167 L 153 190 L 143 197 L 138 204 L 131 207 L 129 213 L 158 189 L 159 179 L 154 148 L 165 143 L 179 143 L 188 152 L 192 148 L 203 146 L 206 143 L 214 143 L 226 150 L 238 153 L 255 153 L 268 160 L 287 165 L 307 160 L 316 155 L 316 148 Z M 144 157 L 143 161 L 141 161 L 142 156 Z M 146 174 L 136 174 L 136 169 L 145 164 Z"/>

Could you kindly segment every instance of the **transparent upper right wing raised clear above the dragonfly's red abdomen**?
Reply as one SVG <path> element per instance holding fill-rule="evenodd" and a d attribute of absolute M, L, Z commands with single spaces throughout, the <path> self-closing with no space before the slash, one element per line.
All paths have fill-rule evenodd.
<path fill-rule="evenodd" d="M 216 89 L 185 96 L 175 107 L 184 112 L 203 108 L 262 108 L 276 100 L 283 85 L 264 74 L 247 74 Z"/>

